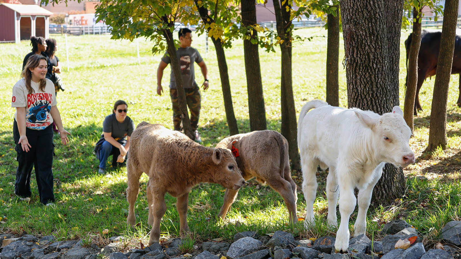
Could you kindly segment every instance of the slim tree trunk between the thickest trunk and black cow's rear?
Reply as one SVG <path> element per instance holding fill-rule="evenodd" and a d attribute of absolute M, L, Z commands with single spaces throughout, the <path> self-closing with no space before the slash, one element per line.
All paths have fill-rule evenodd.
<path fill-rule="evenodd" d="M 403 118 L 411 131 L 414 130 L 414 100 L 416 98 L 416 84 L 418 83 L 418 54 L 421 46 L 421 9 L 413 8 L 413 33 L 411 43 L 407 49 L 407 90 L 403 104 Z"/>

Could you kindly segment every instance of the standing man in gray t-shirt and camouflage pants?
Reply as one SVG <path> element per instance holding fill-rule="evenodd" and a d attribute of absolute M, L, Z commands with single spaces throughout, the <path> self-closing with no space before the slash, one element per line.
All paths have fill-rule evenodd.
<path fill-rule="evenodd" d="M 197 49 L 190 47 L 192 43 L 191 30 L 187 28 L 181 28 L 178 32 L 180 47 L 177 49 L 176 54 L 179 59 L 179 65 L 181 66 L 181 76 L 183 78 L 184 92 L 186 93 L 186 102 L 190 111 L 190 126 L 195 135 L 195 141 L 201 142 L 200 134 L 197 131 L 200 107 L 201 107 L 201 96 L 200 89 L 195 82 L 195 70 L 194 63 L 200 66 L 201 73 L 205 80 L 203 81 L 203 90 L 208 89 L 208 70 L 207 65 L 203 61 L 200 53 Z M 165 53 L 162 57 L 159 68 L 157 69 L 157 94 L 162 95 L 162 77 L 163 71 L 166 66 L 171 63 L 170 57 Z M 175 130 L 181 131 L 181 111 L 179 109 L 176 82 L 173 70 L 170 73 L 170 97 L 173 110 L 173 125 Z"/>

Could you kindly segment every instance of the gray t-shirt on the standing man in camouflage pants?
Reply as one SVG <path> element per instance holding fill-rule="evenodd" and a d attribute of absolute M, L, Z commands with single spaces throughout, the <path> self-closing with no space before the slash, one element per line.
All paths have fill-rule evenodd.
<path fill-rule="evenodd" d="M 180 47 L 176 50 L 176 54 L 181 68 L 181 75 L 183 77 L 183 88 L 197 87 L 197 83 L 195 82 L 194 63 L 196 62 L 198 64 L 203 61 L 200 53 L 193 47 Z M 162 61 L 166 64 L 170 64 L 170 56 L 165 53 Z M 170 88 L 176 89 L 176 79 L 172 69 L 170 73 Z"/>

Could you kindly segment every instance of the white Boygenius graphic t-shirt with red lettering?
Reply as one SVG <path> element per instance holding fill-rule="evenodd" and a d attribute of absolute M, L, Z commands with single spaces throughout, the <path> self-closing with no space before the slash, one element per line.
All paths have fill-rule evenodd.
<path fill-rule="evenodd" d="M 30 87 L 33 91 L 29 94 L 24 78 L 13 86 L 11 106 L 26 107 L 26 127 L 32 130 L 44 130 L 53 123 L 50 111 L 52 106 L 56 106 L 54 84 L 49 79 L 45 80 L 47 85 L 44 92 L 39 89 L 40 82 L 31 80 Z M 14 113 L 16 121 L 18 120 L 17 113 Z"/>

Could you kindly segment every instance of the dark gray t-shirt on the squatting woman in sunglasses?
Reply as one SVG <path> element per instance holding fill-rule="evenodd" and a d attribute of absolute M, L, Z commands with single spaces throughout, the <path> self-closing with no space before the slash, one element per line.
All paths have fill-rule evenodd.
<path fill-rule="evenodd" d="M 111 132 L 111 136 L 119 143 L 125 143 L 125 137 L 131 136 L 133 130 L 135 130 L 135 123 L 130 117 L 127 116 L 124 122 L 119 123 L 115 118 L 115 113 L 107 115 L 102 123 L 102 131 Z M 104 133 L 101 137 L 104 137 Z"/>

